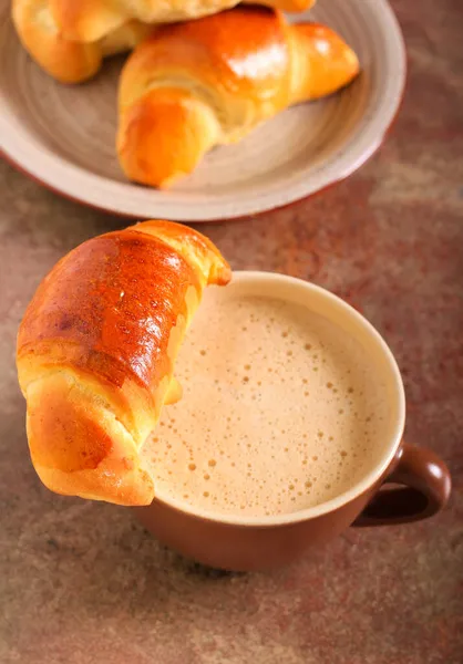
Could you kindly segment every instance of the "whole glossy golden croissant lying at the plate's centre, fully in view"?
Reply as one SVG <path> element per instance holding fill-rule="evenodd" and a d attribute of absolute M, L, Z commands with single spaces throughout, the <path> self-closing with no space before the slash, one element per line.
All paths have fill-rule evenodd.
<path fill-rule="evenodd" d="M 336 32 L 289 25 L 261 7 L 160 27 L 121 74 L 120 164 L 132 180 L 168 186 L 213 146 L 240 141 L 279 111 L 331 94 L 358 72 L 354 52 Z"/>

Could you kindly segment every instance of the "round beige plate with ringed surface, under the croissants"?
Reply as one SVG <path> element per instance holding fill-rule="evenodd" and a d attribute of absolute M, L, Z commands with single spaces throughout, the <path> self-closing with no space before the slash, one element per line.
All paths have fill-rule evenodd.
<path fill-rule="evenodd" d="M 214 149 L 167 191 L 128 183 L 114 151 L 123 58 L 90 83 L 54 82 L 23 51 L 0 0 L 0 148 L 55 191 L 138 218 L 239 217 L 309 196 L 358 168 L 379 147 L 400 104 L 405 52 L 385 0 L 318 0 L 297 20 L 338 30 L 363 73 L 328 100 L 290 108 L 238 145 Z"/>

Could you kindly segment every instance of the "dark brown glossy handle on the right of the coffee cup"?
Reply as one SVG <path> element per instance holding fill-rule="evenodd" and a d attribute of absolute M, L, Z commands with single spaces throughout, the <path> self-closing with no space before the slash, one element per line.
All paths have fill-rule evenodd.
<path fill-rule="evenodd" d="M 352 526 L 388 526 L 428 519 L 449 500 L 451 476 L 430 449 L 402 445 L 394 469 Z M 387 485 L 402 485 L 388 487 Z"/>

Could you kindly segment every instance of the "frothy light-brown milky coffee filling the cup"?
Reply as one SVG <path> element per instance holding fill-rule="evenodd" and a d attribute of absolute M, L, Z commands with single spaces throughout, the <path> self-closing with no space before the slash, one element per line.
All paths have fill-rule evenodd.
<path fill-rule="evenodd" d="M 306 307 L 209 289 L 176 377 L 183 398 L 144 448 L 160 498 L 287 513 L 342 494 L 374 463 L 384 385 L 360 343 Z"/>

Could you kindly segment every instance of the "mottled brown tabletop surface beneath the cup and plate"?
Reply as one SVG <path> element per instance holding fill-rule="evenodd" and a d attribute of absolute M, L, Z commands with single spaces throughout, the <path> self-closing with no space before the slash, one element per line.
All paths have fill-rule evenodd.
<path fill-rule="evenodd" d="M 128 510 L 47 491 L 28 460 L 17 326 L 59 257 L 123 222 L 1 165 L 1 664 L 463 662 L 463 3 L 393 6 L 410 76 L 380 153 L 311 200 L 203 230 L 234 268 L 311 279 L 378 326 L 404 375 L 408 438 L 451 468 L 450 506 L 238 575 L 181 559 Z"/>

